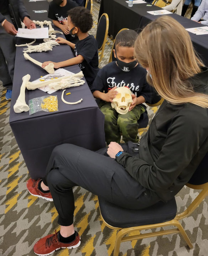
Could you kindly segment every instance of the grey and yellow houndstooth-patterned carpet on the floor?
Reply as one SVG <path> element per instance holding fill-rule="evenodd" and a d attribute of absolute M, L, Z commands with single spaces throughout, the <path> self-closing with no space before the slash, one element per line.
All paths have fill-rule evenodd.
<path fill-rule="evenodd" d="M 93 2 L 95 34 L 99 4 Z M 108 63 L 112 39 L 108 38 L 104 59 Z M 40 238 L 58 228 L 54 204 L 31 196 L 26 190 L 29 178 L 27 167 L 9 125 L 10 102 L 0 85 L 0 255 L 33 256 L 33 245 Z M 156 108 L 149 109 L 150 120 Z M 184 187 L 176 200 L 178 211 L 197 196 Z M 112 256 L 116 231 L 100 220 L 97 196 L 74 188 L 76 209 L 74 224 L 82 241 L 77 249 L 62 249 L 54 256 Z M 124 242 L 119 256 L 207 256 L 208 255 L 208 198 L 194 213 L 182 220 L 182 225 L 194 248 L 188 249 L 180 235 L 166 235 L 139 241 Z"/>

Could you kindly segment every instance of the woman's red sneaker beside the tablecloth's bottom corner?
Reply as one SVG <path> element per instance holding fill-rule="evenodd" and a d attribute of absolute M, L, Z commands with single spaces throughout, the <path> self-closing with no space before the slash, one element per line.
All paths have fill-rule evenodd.
<path fill-rule="evenodd" d="M 41 181 L 41 179 L 38 180 L 33 180 L 33 179 L 28 179 L 27 181 L 27 190 L 29 193 L 33 196 L 37 196 L 43 199 L 46 199 L 47 201 L 53 201 L 51 192 L 48 193 L 43 193 L 39 188 L 38 184 Z"/>

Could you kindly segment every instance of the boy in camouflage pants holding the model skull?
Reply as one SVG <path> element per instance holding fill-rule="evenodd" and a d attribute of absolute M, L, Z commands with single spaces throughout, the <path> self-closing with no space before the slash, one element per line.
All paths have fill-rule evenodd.
<path fill-rule="evenodd" d="M 113 61 L 103 67 L 90 88 L 95 98 L 101 99 L 100 110 L 105 115 L 105 140 L 120 143 L 120 133 L 123 140 L 137 143 L 139 138 L 137 121 L 145 112 L 142 103 L 151 97 L 150 86 L 146 82 L 146 70 L 134 58 L 134 42 L 137 33 L 134 30 L 123 30 L 115 40 Z M 126 86 L 132 92 L 131 106 L 126 114 L 119 114 L 111 107 L 111 102 L 117 92 L 116 87 Z M 104 91 L 104 92 L 103 92 Z"/>

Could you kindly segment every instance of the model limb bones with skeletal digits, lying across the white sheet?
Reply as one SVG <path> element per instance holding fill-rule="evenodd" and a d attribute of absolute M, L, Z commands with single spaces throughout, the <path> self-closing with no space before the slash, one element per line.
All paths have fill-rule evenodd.
<path fill-rule="evenodd" d="M 85 83 L 84 80 L 81 80 L 81 78 L 83 76 L 84 75 L 83 75 L 82 71 L 80 71 L 77 74 L 56 78 L 56 82 L 53 82 L 52 80 L 48 80 L 45 82 L 39 82 L 39 83 L 27 82 L 26 88 L 28 90 L 35 90 L 37 88 L 41 88 L 41 87 L 48 85 L 50 88 L 54 88 L 54 89 L 58 90 L 58 89 L 80 86 Z"/>

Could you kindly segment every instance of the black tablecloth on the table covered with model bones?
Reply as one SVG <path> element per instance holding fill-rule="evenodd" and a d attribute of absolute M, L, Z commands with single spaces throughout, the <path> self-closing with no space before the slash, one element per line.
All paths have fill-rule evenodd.
<path fill-rule="evenodd" d="M 23 39 L 18 39 L 21 44 Z M 38 43 L 42 42 L 41 40 Z M 62 102 L 62 90 L 50 95 L 58 97 L 58 112 L 40 111 L 29 116 L 29 112 L 15 113 L 14 104 L 20 93 L 22 77 L 30 74 L 30 81 L 47 75 L 41 67 L 25 60 L 23 48 L 17 47 L 15 74 L 12 89 L 10 126 L 15 135 L 17 144 L 24 157 L 28 171 L 32 178 L 37 179 L 45 175 L 46 165 L 51 152 L 56 145 L 72 143 L 90 150 L 97 150 L 105 147 L 104 115 L 99 110 L 92 93 L 85 82 L 79 87 L 67 88 L 67 101 L 75 102 L 83 98 L 81 103 L 67 105 Z M 32 58 L 40 62 L 63 61 L 73 57 L 72 50 L 67 45 L 53 47 L 52 51 L 29 53 Z M 78 73 L 78 65 L 66 67 L 74 73 Z M 49 95 L 39 89 L 28 91 L 26 89 L 26 103 L 29 99 Z"/>

